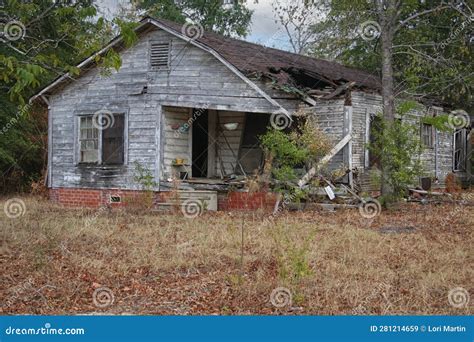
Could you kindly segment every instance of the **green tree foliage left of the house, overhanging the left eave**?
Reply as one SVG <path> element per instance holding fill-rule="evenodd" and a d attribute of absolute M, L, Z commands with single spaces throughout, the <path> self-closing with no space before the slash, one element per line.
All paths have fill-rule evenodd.
<path fill-rule="evenodd" d="M 122 32 L 136 39 L 134 25 L 96 18 L 92 0 L 8 0 L 1 8 L 0 192 L 24 190 L 41 176 L 46 147 L 44 108 L 27 104 L 38 89 L 69 72 Z M 5 35 L 8 32 L 8 35 Z M 98 57 L 104 68 L 120 67 L 118 54 Z"/>

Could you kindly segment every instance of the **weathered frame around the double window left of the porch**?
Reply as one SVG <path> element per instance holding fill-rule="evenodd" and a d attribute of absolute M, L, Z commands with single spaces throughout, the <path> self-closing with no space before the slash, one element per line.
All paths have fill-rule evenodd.
<path fill-rule="evenodd" d="M 81 161 L 81 119 L 84 117 L 93 117 L 95 112 L 100 111 L 101 109 L 91 110 L 91 111 L 79 111 L 75 113 L 74 120 L 74 132 L 75 132 L 75 153 L 74 153 L 74 164 L 76 166 L 125 166 L 128 165 L 128 109 L 113 109 L 111 112 L 113 115 L 122 115 L 123 116 L 123 163 L 122 164 L 104 164 L 103 163 L 103 130 L 98 129 L 98 157 L 97 162 L 83 162 Z M 100 114 L 101 115 L 101 114 Z"/>

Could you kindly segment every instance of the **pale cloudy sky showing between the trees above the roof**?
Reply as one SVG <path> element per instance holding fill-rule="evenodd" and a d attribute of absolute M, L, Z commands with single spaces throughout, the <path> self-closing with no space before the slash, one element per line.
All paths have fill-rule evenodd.
<path fill-rule="evenodd" d="M 127 4 L 129 0 L 96 0 L 102 15 L 113 17 L 120 8 L 120 4 Z M 272 12 L 271 0 L 249 0 L 247 7 L 254 11 L 250 34 L 244 39 L 253 43 L 262 44 L 280 49 L 290 49 L 285 32 L 277 23 Z"/>

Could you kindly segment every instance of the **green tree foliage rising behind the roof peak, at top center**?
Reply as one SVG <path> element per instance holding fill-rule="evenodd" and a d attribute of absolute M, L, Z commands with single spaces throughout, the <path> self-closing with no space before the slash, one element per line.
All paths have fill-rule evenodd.
<path fill-rule="evenodd" d="M 223 35 L 246 36 L 252 11 L 242 2 L 223 5 L 222 0 L 139 0 L 138 7 L 154 17 L 184 23 L 189 18 Z"/>

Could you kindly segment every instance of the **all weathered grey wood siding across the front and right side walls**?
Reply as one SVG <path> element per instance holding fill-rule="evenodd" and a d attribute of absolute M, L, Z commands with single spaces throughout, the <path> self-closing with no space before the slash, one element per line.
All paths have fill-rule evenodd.
<path fill-rule="evenodd" d="M 170 67 L 150 68 L 152 42 L 170 43 Z M 51 179 L 52 187 L 90 187 L 136 189 L 135 161 L 148 168 L 156 177 L 166 178 L 175 158 L 191 160 L 189 133 L 178 137 L 171 129 L 173 123 L 189 119 L 190 108 L 207 108 L 211 115 L 219 114 L 220 124 L 238 122 L 235 131 L 225 131 L 231 149 L 216 129 L 217 142 L 213 148 L 215 167 L 220 175 L 220 160 L 225 173 L 235 169 L 245 112 L 272 113 L 278 108 L 258 91 L 244 82 L 224 63 L 202 49 L 168 32 L 154 29 L 144 33 L 132 48 L 123 50 L 122 67 L 102 76 L 98 68 L 56 90 L 50 97 L 51 120 Z M 299 101 L 291 95 L 273 90 L 270 84 L 256 82 L 261 89 L 293 112 Z M 352 163 L 364 168 L 366 118 L 381 110 L 381 98 L 364 92 L 352 94 Z M 125 163 L 122 166 L 84 166 L 78 164 L 78 118 L 98 110 L 125 114 Z M 344 99 L 317 101 L 309 110 L 311 116 L 336 144 L 344 136 Z M 214 114 L 212 114 L 214 113 Z M 421 116 L 414 113 L 414 117 Z M 216 121 L 217 122 L 217 121 Z M 217 125 L 217 124 L 216 124 Z M 217 128 L 217 127 L 216 127 Z M 438 177 L 444 180 L 452 167 L 452 137 L 438 133 Z M 330 162 L 330 169 L 339 168 L 344 151 Z M 422 156 L 427 173 L 434 176 L 434 149 Z"/>

